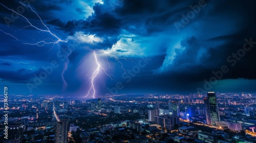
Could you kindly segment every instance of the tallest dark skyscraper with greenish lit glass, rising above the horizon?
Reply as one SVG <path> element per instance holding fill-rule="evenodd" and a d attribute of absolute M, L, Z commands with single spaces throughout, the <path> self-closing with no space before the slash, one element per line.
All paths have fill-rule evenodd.
<path fill-rule="evenodd" d="M 204 98 L 206 109 L 206 122 L 209 125 L 216 125 L 216 121 L 220 121 L 219 109 L 215 92 L 208 92 L 207 98 Z"/>

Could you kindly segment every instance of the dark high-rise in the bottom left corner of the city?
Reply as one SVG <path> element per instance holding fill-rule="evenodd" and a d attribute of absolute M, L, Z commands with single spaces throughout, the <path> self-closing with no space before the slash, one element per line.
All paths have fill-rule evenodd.
<path fill-rule="evenodd" d="M 8 141 L 22 142 L 25 126 L 22 123 L 13 123 L 8 128 Z"/>

